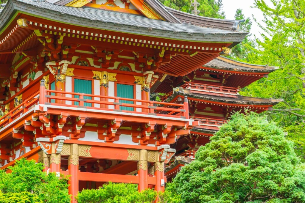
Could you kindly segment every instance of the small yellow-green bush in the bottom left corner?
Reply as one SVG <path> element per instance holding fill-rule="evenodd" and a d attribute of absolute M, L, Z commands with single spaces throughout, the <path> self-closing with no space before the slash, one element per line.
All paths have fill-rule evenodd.
<path fill-rule="evenodd" d="M 0 203 L 42 203 L 42 201 L 30 192 L 6 194 L 0 192 Z"/>

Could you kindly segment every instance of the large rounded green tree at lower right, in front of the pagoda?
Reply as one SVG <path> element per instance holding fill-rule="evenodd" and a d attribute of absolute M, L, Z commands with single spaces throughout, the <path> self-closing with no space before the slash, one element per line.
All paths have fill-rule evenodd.
<path fill-rule="evenodd" d="M 169 190 L 182 202 L 305 202 L 305 166 L 283 130 L 246 110 L 200 147 Z"/>

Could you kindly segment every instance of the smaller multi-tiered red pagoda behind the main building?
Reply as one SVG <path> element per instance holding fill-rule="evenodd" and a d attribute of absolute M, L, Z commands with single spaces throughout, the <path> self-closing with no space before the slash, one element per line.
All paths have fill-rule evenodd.
<path fill-rule="evenodd" d="M 219 56 L 185 76 L 167 76 L 156 92 L 166 93 L 161 100 L 181 103 L 187 97 L 189 117 L 199 121 L 199 126 L 181 136 L 171 147 L 175 156 L 166 164 L 165 175 L 171 180 L 181 166 L 190 163 L 197 149 L 209 142 L 210 137 L 230 118 L 233 111 L 245 108 L 261 113 L 271 110 L 282 99 L 264 99 L 239 95 L 239 90 L 267 77 L 278 69 L 268 65 L 253 65 Z M 170 88 L 173 91 L 170 91 Z"/>

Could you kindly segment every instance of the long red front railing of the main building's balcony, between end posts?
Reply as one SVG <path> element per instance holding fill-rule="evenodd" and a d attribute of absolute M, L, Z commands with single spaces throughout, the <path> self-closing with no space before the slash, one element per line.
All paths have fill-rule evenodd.
<path fill-rule="evenodd" d="M 175 103 L 165 103 L 165 102 L 157 102 L 157 101 L 149 101 L 149 100 L 120 98 L 114 96 L 101 96 L 101 95 L 93 95 L 93 94 L 62 92 L 62 91 L 45 89 L 43 86 L 41 86 L 40 91 L 42 95 L 40 97 L 40 104 L 56 103 L 56 105 L 59 106 L 84 107 L 85 106 L 84 104 L 87 103 L 87 104 L 91 104 L 89 106 L 86 105 L 87 109 L 132 112 L 137 114 L 154 114 L 160 116 L 165 116 L 166 114 L 167 117 L 182 116 L 188 119 L 188 102 L 184 102 L 183 104 L 175 104 Z M 56 96 L 56 94 L 71 95 L 71 97 Z M 75 96 L 78 96 L 79 98 L 75 98 Z M 85 99 L 85 97 L 87 98 L 91 97 L 91 99 Z M 94 100 L 92 98 L 98 100 Z M 70 101 L 72 104 L 66 104 L 66 101 Z M 129 103 L 124 103 L 124 102 L 129 102 Z M 162 106 L 157 106 L 157 105 L 162 105 Z M 95 107 L 95 106 L 99 106 L 99 107 Z M 162 114 L 160 114 L 160 112 L 162 112 Z"/>

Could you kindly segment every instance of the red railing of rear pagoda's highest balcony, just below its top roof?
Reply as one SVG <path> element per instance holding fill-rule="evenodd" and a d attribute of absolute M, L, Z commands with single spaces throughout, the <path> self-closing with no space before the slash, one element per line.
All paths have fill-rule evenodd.
<path fill-rule="evenodd" d="M 204 91 L 213 91 L 213 92 L 220 92 L 220 93 L 229 93 L 229 94 L 237 94 L 239 92 L 239 88 L 236 88 L 236 87 L 207 85 L 207 84 L 196 83 L 196 82 L 185 83 L 183 88 L 204 90 Z"/>

